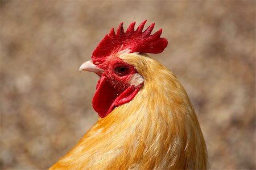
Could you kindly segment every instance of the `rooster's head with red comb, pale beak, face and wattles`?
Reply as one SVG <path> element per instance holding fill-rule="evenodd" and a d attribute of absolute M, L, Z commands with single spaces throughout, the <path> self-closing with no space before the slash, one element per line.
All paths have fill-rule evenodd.
<path fill-rule="evenodd" d="M 134 30 L 135 22 L 132 22 L 126 32 L 121 23 L 117 34 L 112 28 L 93 51 L 92 60 L 80 67 L 80 70 L 100 76 L 92 103 L 101 118 L 106 117 L 115 107 L 130 102 L 143 86 L 143 76 L 134 65 L 125 61 L 125 55 L 160 53 L 167 47 L 167 40 L 160 38 L 162 29 L 150 35 L 154 23 L 143 31 L 145 23 L 146 20 Z"/>

